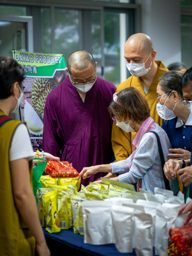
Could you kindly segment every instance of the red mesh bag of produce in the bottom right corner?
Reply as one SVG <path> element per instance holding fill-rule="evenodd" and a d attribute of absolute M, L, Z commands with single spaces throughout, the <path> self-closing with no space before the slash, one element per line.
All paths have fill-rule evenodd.
<path fill-rule="evenodd" d="M 173 244 L 168 248 L 168 255 L 192 255 L 192 226 L 175 227 L 169 229 Z"/>

